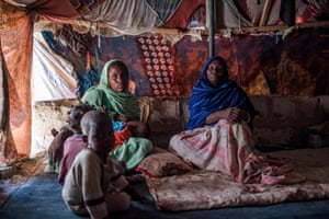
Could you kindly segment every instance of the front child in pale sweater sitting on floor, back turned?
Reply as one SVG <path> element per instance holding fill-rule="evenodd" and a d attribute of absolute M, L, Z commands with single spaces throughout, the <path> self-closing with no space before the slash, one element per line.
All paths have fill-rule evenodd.
<path fill-rule="evenodd" d="M 69 209 L 80 216 L 107 218 L 110 212 L 129 208 L 129 188 L 109 157 L 114 145 L 113 128 L 107 114 L 86 113 L 81 119 L 82 139 L 88 148 L 76 157 L 63 186 L 63 198 Z"/>

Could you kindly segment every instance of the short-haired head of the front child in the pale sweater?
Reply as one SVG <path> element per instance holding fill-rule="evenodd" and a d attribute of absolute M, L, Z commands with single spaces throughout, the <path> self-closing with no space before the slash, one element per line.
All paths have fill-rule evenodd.
<path fill-rule="evenodd" d="M 99 153 L 109 153 L 114 145 L 112 120 L 101 111 L 90 111 L 81 118 L 81 130 L 88 138 L 88 148 Z"/>

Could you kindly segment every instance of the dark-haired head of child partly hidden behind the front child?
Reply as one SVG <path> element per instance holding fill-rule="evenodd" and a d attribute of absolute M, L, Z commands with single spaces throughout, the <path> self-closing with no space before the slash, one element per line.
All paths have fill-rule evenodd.
<path fill-rule="evenodd" d="M 94 107 L 89 105 L 88 103 L 79 103 L 77 105 L 72 105 L 70 111 L 68 112 L 67 117 L 69 128 L 76 134 L 81 134 L 81 118 L 87 112 L 92 110 L 94 110 Z"/>

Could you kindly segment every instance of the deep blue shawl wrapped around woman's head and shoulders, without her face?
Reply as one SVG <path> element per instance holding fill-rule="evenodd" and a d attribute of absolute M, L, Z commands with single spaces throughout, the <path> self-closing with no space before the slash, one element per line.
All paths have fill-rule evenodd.
<path fill-rule="evenodd" d="M 227 76 L 226 81 L 216 88 L 211 85 L 206 74 L 209 64 L 215 59 L 222 62 Z M 238 107 L 249 112 L 251 122 L 256 114 L 246 92 L 235 81 L 228 79 L 226 60 L 218 56 L 211 57 L 202 69 L 201 78 L 192 89 L 189 102 L 190 120 L 185 129 L 202 127 L 209 114 L 227 107 Z"/>

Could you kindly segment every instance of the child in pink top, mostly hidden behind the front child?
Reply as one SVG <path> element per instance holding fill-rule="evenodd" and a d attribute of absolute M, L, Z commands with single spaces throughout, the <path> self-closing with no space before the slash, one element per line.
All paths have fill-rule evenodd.
<path fill-rule="evenodd" d="M 65 176 L 72 165 L 76 155 L 82 149 L 87 148 L 87 143 L 82 139 L 80 120 L 82 116 L 91 110 L 94 110 L 94 107 L 86 103 L 79 103 L 71 106 L 70 111 L 68 112 L 67 123 L 68 128 L 72 131 L 72 135 L 64 141 L 63 159 L 59 162 L 58 171 L 58 182 L 61 185 L 64 184 Z"/>

